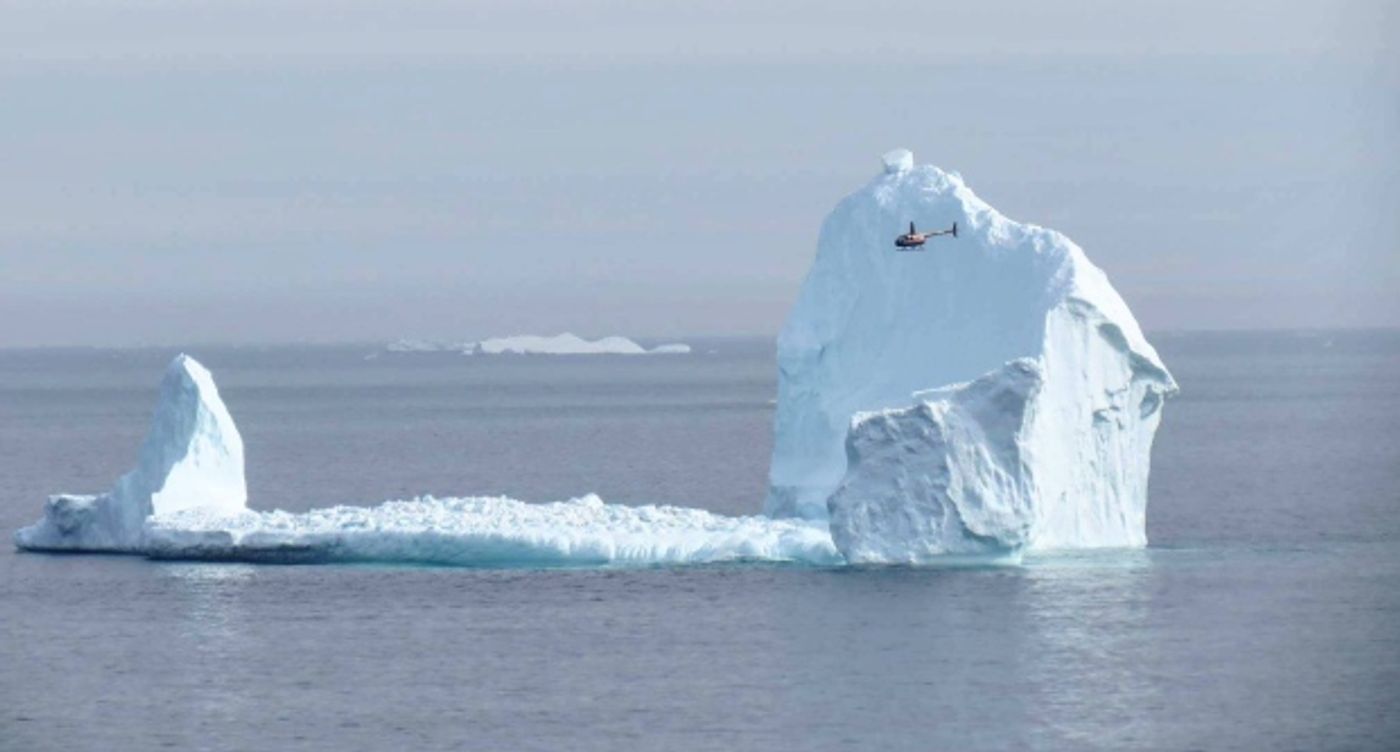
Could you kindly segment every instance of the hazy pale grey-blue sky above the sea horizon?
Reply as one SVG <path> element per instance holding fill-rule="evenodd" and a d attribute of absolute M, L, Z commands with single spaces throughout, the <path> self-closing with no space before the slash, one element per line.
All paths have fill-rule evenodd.
<path fill-rule="evenodd" d="M 1149 330 L 1394 326 L 1397 6 L 0 0 L 0 346 L 774 333 L 896 146 Z"/>

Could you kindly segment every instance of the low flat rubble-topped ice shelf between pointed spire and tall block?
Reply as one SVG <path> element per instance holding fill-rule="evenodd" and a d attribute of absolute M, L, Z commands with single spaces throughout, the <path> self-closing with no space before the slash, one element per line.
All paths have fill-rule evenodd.
<path fill-rule="evenodd" d="M 224 515 L 186 510 L 151 520 L 147 553 L 242 562 L 398 562 L 455 566 L 836 564 L 825 524 L 725 517 L 683 507 L 605 504 L 596 496 L 386 501 Z"/>

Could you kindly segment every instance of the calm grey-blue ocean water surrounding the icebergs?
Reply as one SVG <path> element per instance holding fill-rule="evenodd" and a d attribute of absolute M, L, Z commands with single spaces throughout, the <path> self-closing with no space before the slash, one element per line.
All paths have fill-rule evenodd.
<path fill-rule="evenodd" d="M 0 548 L 0 749 L 1393 749 L 1400 333 L 1152 337 L 1149 549 L 1022 567 L 251 566 Z M 211 349 L 251 504 L 757 511 L 771 342 Z M 0 350 L 0 529 L 125 472 L 174 350 Z"/>

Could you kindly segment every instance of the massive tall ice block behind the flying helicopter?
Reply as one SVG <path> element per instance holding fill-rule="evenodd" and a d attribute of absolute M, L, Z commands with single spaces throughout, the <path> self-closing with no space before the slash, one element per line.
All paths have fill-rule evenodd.
<path fill-rule="evenodd" d="M 910 221 L 956 238 L 896 252 Z M 907 151 L 826 218 L 778 337 L 766 511 L 853 562 L 1141 546 L 1176 384 L 1103 272 Z"/>

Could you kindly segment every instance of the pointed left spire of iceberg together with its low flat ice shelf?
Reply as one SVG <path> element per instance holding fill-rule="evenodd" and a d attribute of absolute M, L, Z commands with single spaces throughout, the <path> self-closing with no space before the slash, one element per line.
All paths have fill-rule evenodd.
<path fill-rule="evenodd" d="M 459 566 L 693 564 L 841 557 L 826 524 L 683 507 L 414 499 L 301 514 L 245 506 L 244 447 L 214 381 L 176 357 L 161 382 L 137 468 L 102 496 L 55 496 L 20 529 L 31 550 L 249 562 Z"/>

